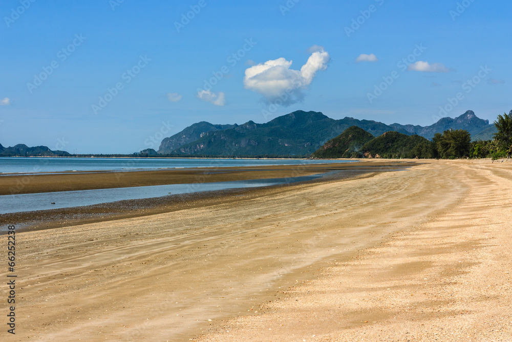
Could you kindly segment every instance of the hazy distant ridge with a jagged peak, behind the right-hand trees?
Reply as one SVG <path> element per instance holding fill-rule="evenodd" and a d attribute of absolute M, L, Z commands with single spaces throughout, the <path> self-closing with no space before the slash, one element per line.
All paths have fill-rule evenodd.
<path fill-rule="evenodd" d="M 464 129 L 472 135 L 472 139 L 476 140 L 474 136 L 486 129 L 492 129 L 494 125 L 489 125 L 489 120 L 478 118 L 472 110 L 466 111 L 464 114 L 456 117 L 443 117 L 437 123 L 431 126 L 413 126 L 413 125 L 400 125 L 391 124 L 394 128 L 407 130 L 411 134 L 421 135 L 427 139 L 432 139 L 435 133 L 442 133 L 449 129 Z"/>

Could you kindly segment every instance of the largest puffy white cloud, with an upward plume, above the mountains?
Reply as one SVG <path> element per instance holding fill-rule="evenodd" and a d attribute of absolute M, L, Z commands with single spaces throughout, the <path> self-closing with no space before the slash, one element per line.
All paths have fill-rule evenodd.
<path fill-rule="evenodd" d="M 309 56 L 301 70 L 290 69 L 292 61 L 281 57 L 258 64 L 245 70 L 246 89 L 263 95 L 268 103 L 279 100 L 284 106 L 300 102 L 304 98 L 302 90 L 313 82 L 316 72 L 327 69 L 330 56 L 322 47 Z"/>

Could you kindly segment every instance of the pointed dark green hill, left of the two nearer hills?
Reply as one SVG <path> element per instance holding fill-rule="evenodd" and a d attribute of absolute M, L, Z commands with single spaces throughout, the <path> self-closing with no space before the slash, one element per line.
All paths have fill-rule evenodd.
<path fill-rule="evenodd" d="M 311 156 L 313 158 L 351 158 L 363 145 L 374 138 L 373 135 L 357 126 L 347 128 L 342 134 L 329 140 Z"/>

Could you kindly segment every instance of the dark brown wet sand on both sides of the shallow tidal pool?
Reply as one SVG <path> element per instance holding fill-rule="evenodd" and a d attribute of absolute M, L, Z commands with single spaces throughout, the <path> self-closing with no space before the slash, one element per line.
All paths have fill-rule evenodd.
<path fill-rule="evenodd" d="M 275 177 L 297 177 L 318 173 L 336 172 L 328 179 L 345 179 L 350 177 L 371 174 L 374 172 L 387 172 L 404 169 L 412 165 L 407 162 L 358 162 L 336 163 L 324 165 L 294 165 L 254 168 L 209 168 L 187 170 L 156 170 L 156 171 L 130 171 L 130 172 L 94 172 L 90 174 L 60 173 L 41 174 L 29 176 L 2 176 L 0 177 L 0 192 L 10 191 L 12 184 L 25 183 L 18 187 L 20 193 L 54 192 L 56 189 L 91 190 L 118 187 L 132 187 L 135 185 L 164 185 L 179 184 L 186 181 L 194 182 L 192 186 L 200 189 L 198 184 L 205 182 L 225 182 L 228 180 L 263 179 Z M 324 181 L 318 179 L 309 183 Z M 103 203 L 86 207 L 72 207 L 32 212 L 18 212 L 0 214 L 0 225 L 16 222 L 22 230 L 40 230 L 95 222 L 104 222 L 112 219 L 131 218 L 161 214 L 182 209 L 193 209 L 220 203 L 237 201 L 241 196 L 255 198 L 264 191 L 267 195 L 272 191 L 285 191 L 284 186 L 272 186 L 259 189 L 230 189 L 223 191 L 209 191 L 189 194 L 169 195 L 165 197 L 144 198 L 135 200 L 121 200 L 112 203 Z M 280 190 L 278 190 L 280 189 Z M 274 192 L 272 192 L 274 193 Z M 57 197 L 58 198 L 58 197 Z M 0 231 L 1 234 L 6 232 Z"/>

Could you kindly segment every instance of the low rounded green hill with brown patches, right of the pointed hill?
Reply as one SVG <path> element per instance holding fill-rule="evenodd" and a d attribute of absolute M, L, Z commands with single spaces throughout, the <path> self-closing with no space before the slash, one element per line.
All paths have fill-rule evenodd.
<path fill-rule="evenodd" d="M 432 142 L 419 135 L 386 132 L 359 150 L 367 158 L 431 158 Z"/>

